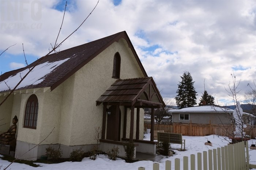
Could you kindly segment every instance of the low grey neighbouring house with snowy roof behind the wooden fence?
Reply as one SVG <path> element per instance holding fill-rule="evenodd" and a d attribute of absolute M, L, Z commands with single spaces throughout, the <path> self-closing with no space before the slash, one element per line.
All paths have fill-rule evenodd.
<path fill-rule="evenodd" d="M 173 123 L 195 123 L 195 124 L 231 124 L 230 115 L 233 109 L 220 107 L 218 105 L 201 105 L 182 109 L 172 109 L 169 113 L 173 116 Z M 253 125 L 255 116 L 243 112 L 243 119 L 251 119 L 246 124 Z"/>

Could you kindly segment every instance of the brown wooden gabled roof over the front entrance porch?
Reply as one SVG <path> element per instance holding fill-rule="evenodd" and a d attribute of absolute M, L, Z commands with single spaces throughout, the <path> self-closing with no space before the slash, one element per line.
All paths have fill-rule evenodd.
<path fill-rule="evenodd" d="M 165 107 L 165 103 L 152 77 L 131 78 L 115 81 L 96 100 L 100 105 L 126 105 L 140 108 Z"/>

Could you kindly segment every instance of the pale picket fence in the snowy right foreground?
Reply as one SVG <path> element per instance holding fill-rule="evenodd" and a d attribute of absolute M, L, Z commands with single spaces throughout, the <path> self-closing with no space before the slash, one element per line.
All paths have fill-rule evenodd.
<path fill-rule="evenodd" d="M 246 152 L 245 152 L 246 145 Z M 203 155 L 203 161 L 202 161 Z M 249 170 L 256 168 L 256 165 L 249 164 L 249 149 L 248 141 L 239 142 L 236 144 L 228 144 L 225 147 L 220 147 L 213 150 L 190 155 L 190 168 L 188 157 L 183 157 L 183 170 Z M 165 170 L 171 170 L 171 161 L 165 162 Z M 139 167 L 138 170 L 145 170 L 144 167 Z M 153 170 L 159 170 L 159 163 L 153 163 Z M 174 160 L 174 170 L 180 170 L 180 159 Z"/>

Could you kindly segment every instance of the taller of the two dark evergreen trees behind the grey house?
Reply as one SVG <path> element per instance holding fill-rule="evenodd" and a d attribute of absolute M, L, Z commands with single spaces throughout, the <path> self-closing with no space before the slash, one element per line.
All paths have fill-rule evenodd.
<path fill-rule="evenodd" d="M 182 109 L 185 107 L 192 107 L 196 105 L 196 90 L 194 88 L 194 81 L 189 72 L 184 72 L 181 77 L 181 82 L 178 84 L 178 90 L 175 97 L 177 106 Z"/>

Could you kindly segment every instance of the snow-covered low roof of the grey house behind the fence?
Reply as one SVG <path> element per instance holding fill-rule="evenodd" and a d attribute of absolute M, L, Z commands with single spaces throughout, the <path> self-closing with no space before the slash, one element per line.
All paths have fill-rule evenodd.
<path fill-rule="evenodd" d="M 233 109 L 221 107 L 218 105 L 203 105 L 195 107 L 187 107 L 182 109 L 172 109 L 168 111 L 169 113 L 233 113 Z M 249 113 L 243 112 L 246 115 L 251 115 Z M 252 116 L 252 115 L 251 115 Z"/>

